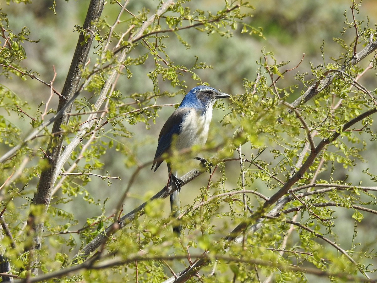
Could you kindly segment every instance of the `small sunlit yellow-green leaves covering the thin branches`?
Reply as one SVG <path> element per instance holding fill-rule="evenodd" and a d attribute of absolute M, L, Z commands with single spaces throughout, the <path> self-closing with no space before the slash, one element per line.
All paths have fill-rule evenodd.
<path fill-rule="evenodd" d="M 52 5 L 54 8 L 55 2 Z M 110 8 L 119 9 L 117 1 L 109 1 L 106 5 L 113 5 Z M 264 37 L 265 32 L 262 28 L 253 27 L 248 23 L 252 9 L 248 3 L 224 1 L 221 5 L 215 11 L 204 11 L 197 7 L 197 3 L 189 5 L 185 1 L 177 1 L 169 7 L 167 13 L 156 18 L 143 31 L 142 38 L 136 40 L 132 40 L 132 36 L 158 7 L 152 5 L 149 7 L 150 10 L 145 7 L 139 8 L 138 11 L 124 10 L 120 19 L 116 20 L 115 29 L 112 29 L 115 18 L 106 15 L 100 20 L 97 28 L 90 31 L 93 32 L 97 46 L 94 46 L 95 53 L 91 57 L 91 62 L 80 66 L 82 82 L 85 83 L 83 93 L 74 103 L 69 123 L 62 126 L 57 134 L 64 139 L 64 153 L 64 148 L 84 129 L 80 135 L 80 143 L 68 157 L 63 171 L 56 172 L 58 180 L 52 188 L 54 197 L 43 234 L 43 245 L 53 251 L 50 255 L 41 254 L 39 267 L 44 272 L 67 265 L 67 260 L 72 256 L 67 256 L 66 250 L 72 252 L 82 248 L 96 236 L 102 235 L 111 223 L 118 223 L 120 217 L 135 207 L 135 200 L 139 201 L 140 195 L 144 195 L 145 199 L 140 200 L 144 201 L 155 193 L 156 188 L 151 188 L 150 192 L 149 188 L 144 190 L 144 176 L 132 176 L 130 173 L 146 166 L 149 160 L 139 160 L 139 153 L 144 150 L 144 146 L 155 142 L 155 138 L 140 134 L 141 129 L 150 129 L 155 122 L 160 122 L 157 119 L 158 114 L 161 114 L 161 97 L 182 95 L 188 85 L 204 83 L 198 70 L 212 68 L 206 63 L 206 58 L 202 57 L 202 46 L 181 30 L 192 29 L 193 32 L 216 34 L 221 37 L 231 37 L 236 32 L 242 33 L 242 36 Z M 353 20 L 349 20 L 348 14 L 346 16 L 346 29 L 352 30 Z M 17 31 L 18 33 L 13 31 L 8 26 L 5 14 L 2 14 L 1 20 L 4 29 L 2 38 L 6 41 L 2 42 L 4 45 L 0 50 L 0 58 L 3 60 L 1 63 L 5 65 L 2 69 L 3 74 L 9 76 L 13 72 L 21 75 L 11 66 L 24 71 L 18 65 L 24 63 L 22 60 L 26 54 L 23 43 L 30 41 L 30 32 L 27 28 L 21 29 L 21 32 Z M 358 20 L 356 24 L 359 43 L 375 34 L 369 23 L 363 27 L 360 26 L 362 21 Z M 84 40 L 81 44 L 84 44 L 90 36 L 89 31 L 83 30 L 79 25 L 75 31 L 77 34 L 83 33 Z M 175 49 L 168 45 L 172 39 L 169 37 L 181 44 L 183 50 L 195 48 L 196 55 L 192 56 L 190 63 L 183 64 L 172 59 L 176 56 Z M 174 265 L 174 271 L 185 269 L 190 265 L 189 252 L 194 260 L 195 257 L 203 255 L 204 251 L 208 251 L 212 263 L 216 262 L 217 269 L 211 266 L 216 276 L 207 277 L 211 271 L 203 272 L 202 281 L 224 282 L 233 278 L 246 282 L 258 280 L 258 272 L 265 277 L 275 272 L 273 281 L 276 282 L 305 281 L 305 272 L 299 270 L 302 266 L 335 274 L 355 272 L 355 266 L 345 257 L 339 256 L 337 249 L 329 248 L 321 236 L 337 243 L 342 237 L 341 234 L 337 234 L 337 228 L 342 226 L 338 224 L 338 221 L 343 220 L 341 217 L 347 217 L 356 224 L 364 223 L 365 211 L 359 206 L 375 205 L 373 192 L 363 189 L 361 181 L 352 183 L 354 181 L 348 180 L 349 176 L 344 173 L 347 171 L 342 171 L 352 170 L 364 161 L 362 151 L 367 146 L 366 141 L 376 138 L 372 117 L 365 117 L 362 122 L 352 127 L 345 127 L 346 123 L 374 107 L 375 89 L 365 89 L 358 81 L 365 65 L 360 64 L 351 68 L 348 64 L 344 70 L 340 68 L 345 59 L 352 57 L 354 42 L 347 42 L 344 38 L 336 38 L 334 41 L 343 48 L 343 54 L 328 61 L 325 42 L 322 46 L 318 43 L 318 52 L 322 51 L 323 63 L 316 65 L 304 61 L 303 64 L 307 64 L 304 72 L 290 69 L 292 62 L 280 62 L 274 50 L 264 48 L 259 55 L 250 54 L 250 58 L 257 59 L 257 74 L 250 72 L 247 78 L 244 78 L 243 93 L 233 94 L 226 102 L 218 102 L 215 105 L 216 108 L 225 111 L 224 118 L 219 119 L 224 131 L 216 133 L 217 136 L 224 137 L 221 145 L 217 141 L 209 141 L 205 148 L 195 146 L 187 154 L 173 152 L 173 156 L 169 157 L 173 163 L 179 164 L 176 166 L 179 171 L 187 172 L 187 166 L 184 164 L 189 163 L 192 168 L 198 165 L 195 161 L 187 161 L 191 157 L 201 153 L 207 154 L 207 151 L 221 151 L 225 145 L 218 157 L 234 158 L 238 157 L 237 149 L 242 145 L 242 174 L 238 165 L 239 160 L 221 161 L 217 164 L 216 170 L 211 168 L 215 171 L 213 175 L 205 173 L 200 180 L 198 178 L 199 181 L 195 180 L 200 183 L 195 184 L 193 181 L 189 186 L 182 188 L 182 191 L 186 188 L 194 191 L 195 197 L 193 200 L 185 201 L 179 220 L 173 219 L 167 212 L 165 201 L 148 201 L 144 209 L 145 215 L 135 217 L 126 228 L 109 237 L 106 245 L 101 247 L 104 257 L 120 257 L 124 263 L 106 271 L 83 271 L 79 276 L 64 280 L 107 281 L 107 275 L 115 274 L 119 278 L 122 277 L 123 281 L 136 281 L 136 277 L 138 281 L 163 281 L 170 276 L 167 275 L 170 265 Z M 126 56 L 118 63 L 117 58 L 123 51 Z M 224 58 L 229 61 L 233 59 L 234 57 Z M 245 60 L 245 65 L 247 59 L 241 59 Z M 375 60 L 372 63 L 375 64 Z M 8 66 L 9 64 L 11 66 Z M 119 81 L 128 85 L 136 77 L 135 74 L 138 74 L 135 72 L 136 68 L 141 67 L 145 67 L 144 71 L 147 70 L 145 79 L 150 80 L 148 83 L 153 85 L 153 89 L 135 92 L 133 85 L 124 88 L 124 85 L 114 83 L 105 94 L 104 104 L 96 108 L 97 98 L 113 70 L 118 72 L 116 75 Z M 218 72 L 215 69 L 212 71 Z M 331 86 L 323 89 L 307 104 L 296 107 L 296 112 L 288 113 L 292 109 L 285 102 L 300 97 L 308 86 L 327 75 L 333 76 Z M 186 82 L 188 78 L 191 78 L 192 82 Z M 287 83 L 287 78 L 294 78 L 296 81 Z M 175 87 L 176 91 L 163 91 L 165 87 L 162 85 L 166 84 Z M 34 109 L 12 90 L 3 86 L 0 88 L 0 94 L 0 107 L 4 110 L 0 115 L 0 142 L 5 148 L 22 142 L 23 134 L 26 132 L 18 123 L 11 122 L 9 115 L 13 115 L 17 121 L 30 123 L 31 127 L 35 128 L 40 125 L 42 118 L 46 119 L 55 112 L 50 107 L 44 113 L 46 101 L 38 103 L 39 106 Z M 171 99 L 169 110 L 173 111 L 172 106 L 178 106 L 177 100 Z M 29 110 L 32 112 L 30 115 Z M 86 123 L 92 120 L 95 121 L 93 125 L 84 128 Z M 25 208 L 31 204 L 35 191 L 35 186 L 29 186 L 29 181 L 39 180 L 40 172 L 50 168 L 44 151 L 49 131 L 50 129 L 46 128 L 40 136 L 35 137 L 29 147 L 23 146 L 1 165 L 0 176 L 5 184 L 2 188 L 1 204 L 6 206 L 3 217 L 7 221 L 11 220 L 9 223 L 12 223 L 14 235 L 24 233 L 23 220 L 27 219 Z M 333 138 L 338 134 L 339 137 Z M 269 197 L 297 174 L 322 141 L 329 142 L 317 152 L 307 170 L 284 195 L 289 201 L 275 213 L 269 214 L 274 206 L 268 206 L 265 210 L 263 208 Z M 92 188 L 98 187 L 92 185 L 97 183 L 100 183 L 99 186 L 103 189 L 112 189 L 112 181 L 108 177 L 114 174 L 107 168 L 109 158 L 118 161 L 122 172 L 127 176 L 122 178 L 122 188 L 126 188 L 132 177 L 138 180 L 134 185 L 137 183 L 140 187 L 137 195 L 131 192 L 124 194 L 125 205 L 122 208 L 107 208 L 107 199 L 98 200 L 92 191 Z M 28 163 L 29 161 L 32 163 Z M 365 169 L 363 174 L 372 182 L 377 180 L 373 169 Z M 243 190 L 248 190 L 245 198 Z M 114 201 L 113 196 L 116 195 L 118 201 L 124 191 L 125 189 L 121 192 L 109 191 L 109 198 Z M 80 215 L 65 209 L 72 205 L 74 211 L 81 212 L 84 207 L 82 203 L 100 209 L 100 215 Z M 262 217 L 258 219 L 258 223 L 250 221 L 247 225 L 251 227 L 258 224 L 258 229 L 250 234 L 242 231 L 243 242 L 239 245 L 229 245 L 224 237 L 236 225 L 248 221 L 248 217 L 255 211 L 261 212 Z M 38 208 L 34 213 L 38 215 Z M 293 219 L 302 226 L 290 224 Z M 181 238 L 175 237 L 171 231 L 171 226 L 178 221 L 184 227 L 184 235 Z M 26 231 L 26 235 L 27 232 L 29 231 Z M 22 254 L 23 250 L 20 248 L 23 246 L 24 238 L 28 237 L 16 238 L 17 251 L 21 255 L 9 255 L 12 264 L 18 269 L 28 268 L 29 254 Z M 3 243 L 9 246 L 6 240 Z M 229 246 L 226 252 L 224 245 Z M 368 267 L 362 262 L 367 257 L 375 257 L 375 252 L 365 246 L 357 249 L 359 247 L 356 239 L 352 239 L 350 246 L 351 248 L 345 248 L 349 248 L 347 252 L 352 253 L 352 257 L 355 258 L 357 255 L 354 254 L 360 253 L 360 266 L 367 270 Z M 292 267 L 297 270 L 292 270 Z M 20 276 L 26 276 L 26 272 Z"/>

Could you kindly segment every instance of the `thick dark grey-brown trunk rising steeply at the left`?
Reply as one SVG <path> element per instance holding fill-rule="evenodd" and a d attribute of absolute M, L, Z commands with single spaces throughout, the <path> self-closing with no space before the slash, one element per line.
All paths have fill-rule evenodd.
<path fill-rule="evenodd" d="M 67 103 L 74 98 L 81 80 L 81 68 L 86 63 L 90 46 L 92 45 L 95 23 L 98 21 L 102 10 L 103 10 L 104 0 L 91 0 L 88 8 L 88 12 L 84 21 L 83 29 L 88 31 L 89 37 L 85 37 L 84 33 L 81 32 L 75 49 L 75 54 L 72 59 L 70 69 L 66 78 L 66 82 L 61 92 L 61 97 L 59 99 L 57 112 L 65 111 L 67 108 Z M 68 112 L 72 108 L 72 104 L 68 105 Z M 46 154 L 48 155 L 49 167 L 41 173 L 40 181 L 38 184 L 37 192 L 32 201 L 31 206 L 41 206 L 40 213 L 36 218 L 31 209 L 28 223 L 30 225 L 30 232 L 28 236 L 32 237 L 32 244 L 25 246 L 25 251 L 39 250 L 41 248 L 42 232 L 44 227 L 44 218 L 47 213 L 47 209 L 51 200 L 51 191 L 55 182 L 55 175 L 57 175 L 58 167 L 57 161 L 61 154 L 61 148 L 63 145 L 63 133 L 54 135 L 54 133 L 62 132 L 62 126 L 67 125 L 69 117 L 65 114 L 60 115 L 54 122 L 52 127 L 52 138 L 50 139 L 48 149 Z M 38 220 L 37 220 L 38 219 Z M 31 272 L 34 275 L 38 274 L 38 263 L 39 257 L 34 253 L 34 257 L 31 258 L 30 266 Z"/>

